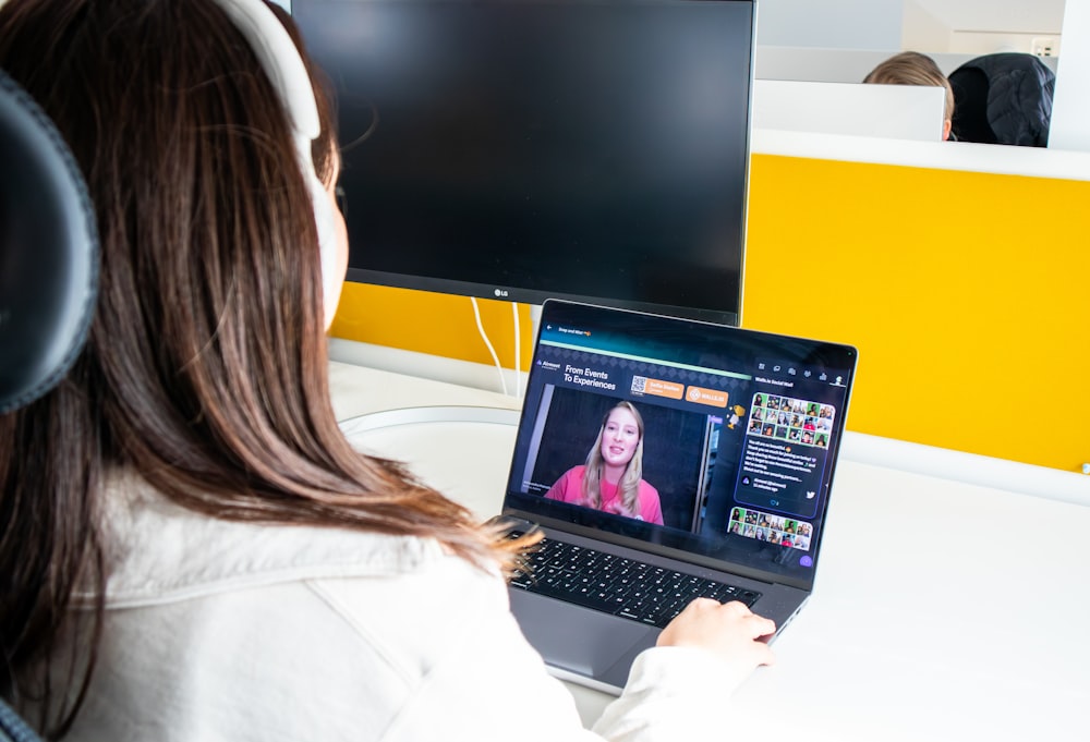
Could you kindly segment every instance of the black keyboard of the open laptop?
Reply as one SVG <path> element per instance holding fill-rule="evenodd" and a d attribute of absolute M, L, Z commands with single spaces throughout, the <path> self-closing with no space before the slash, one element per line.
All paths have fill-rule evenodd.
<path fill-rule="evenodd" d="M 512 537 L 519 534 L 511 534 Z M 760 593 L 573 544 L 542 539 L 511 586 L 664 628 L 693 598 L 752 606 Z"/>

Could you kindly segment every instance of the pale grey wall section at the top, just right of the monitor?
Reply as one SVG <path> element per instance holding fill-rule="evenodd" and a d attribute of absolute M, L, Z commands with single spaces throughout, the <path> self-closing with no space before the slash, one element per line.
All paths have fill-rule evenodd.
<path fill-rule="evenodd" d="M 903 0 L 760 0 L 758 44 L 900 49 Z"/>

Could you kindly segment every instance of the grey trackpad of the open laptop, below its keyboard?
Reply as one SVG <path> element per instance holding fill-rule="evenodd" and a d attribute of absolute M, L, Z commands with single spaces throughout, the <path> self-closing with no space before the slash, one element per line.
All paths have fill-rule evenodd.
<path fill-rule="evenodd" d="M 625 655 L 654 646 L 658 629 L 511 588 L 511 610 L 545 661 L 593 678 Z M 637 646 L 639 645 L 639 646 Z M 628 674 L 623 670 L 623 677 Z"/>

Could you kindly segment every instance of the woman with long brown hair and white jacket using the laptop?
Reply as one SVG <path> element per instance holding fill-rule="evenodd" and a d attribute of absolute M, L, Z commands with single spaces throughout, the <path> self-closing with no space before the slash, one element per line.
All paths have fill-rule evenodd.
<path fill-rule="evenodd" d="M 253 0 L 0 8 L 0 68 L 72 148 L 102 252 L 72 372 L 0 416 L 0 691 L 50 738 L 336 739 L 339 723 L 382 739 L 378 719 L 410 738 L 433 723 L 434 739 L 582 739 L 507 608 L 500 575 L 526 543 L 359 453 L 337 425 L 314 194 L 284 102 L 225 5 L 275 13 L 301 47 L 283 11 Z M 336 209 L 315 88 L 313 167 Z M 119 600 L 132 574 L 147 579 Z M 170 592 L 179 575 L 197 582 Z M 437 611 L 428 588 L 458 599 Z M 694 601 L 603 733 L 717 728 L 707 704 L 772 661 L 760 640 L 773 629 L 741 604 Z M 396 652 L 419 662 L 391 669 Z M 473 661 L 451 668 L 458 652 Z M 401 684 L 375 680 L 389 678 Z M 656 703 L 658 689 L 685 703 Z M 512 732 L 524 697 L 541 723 Z"/>

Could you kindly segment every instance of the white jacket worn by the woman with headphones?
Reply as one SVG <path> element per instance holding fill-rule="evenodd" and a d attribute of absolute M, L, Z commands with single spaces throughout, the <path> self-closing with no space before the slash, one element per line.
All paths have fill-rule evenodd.
<path fill-rule="evenodd" d="M 435 542 L 218 521 L 133 483 L 109 502 L 105 635 L 72 740 L 718 739 L 741 680 L 650 649 L 588 731 L 502 580 Z"/>

